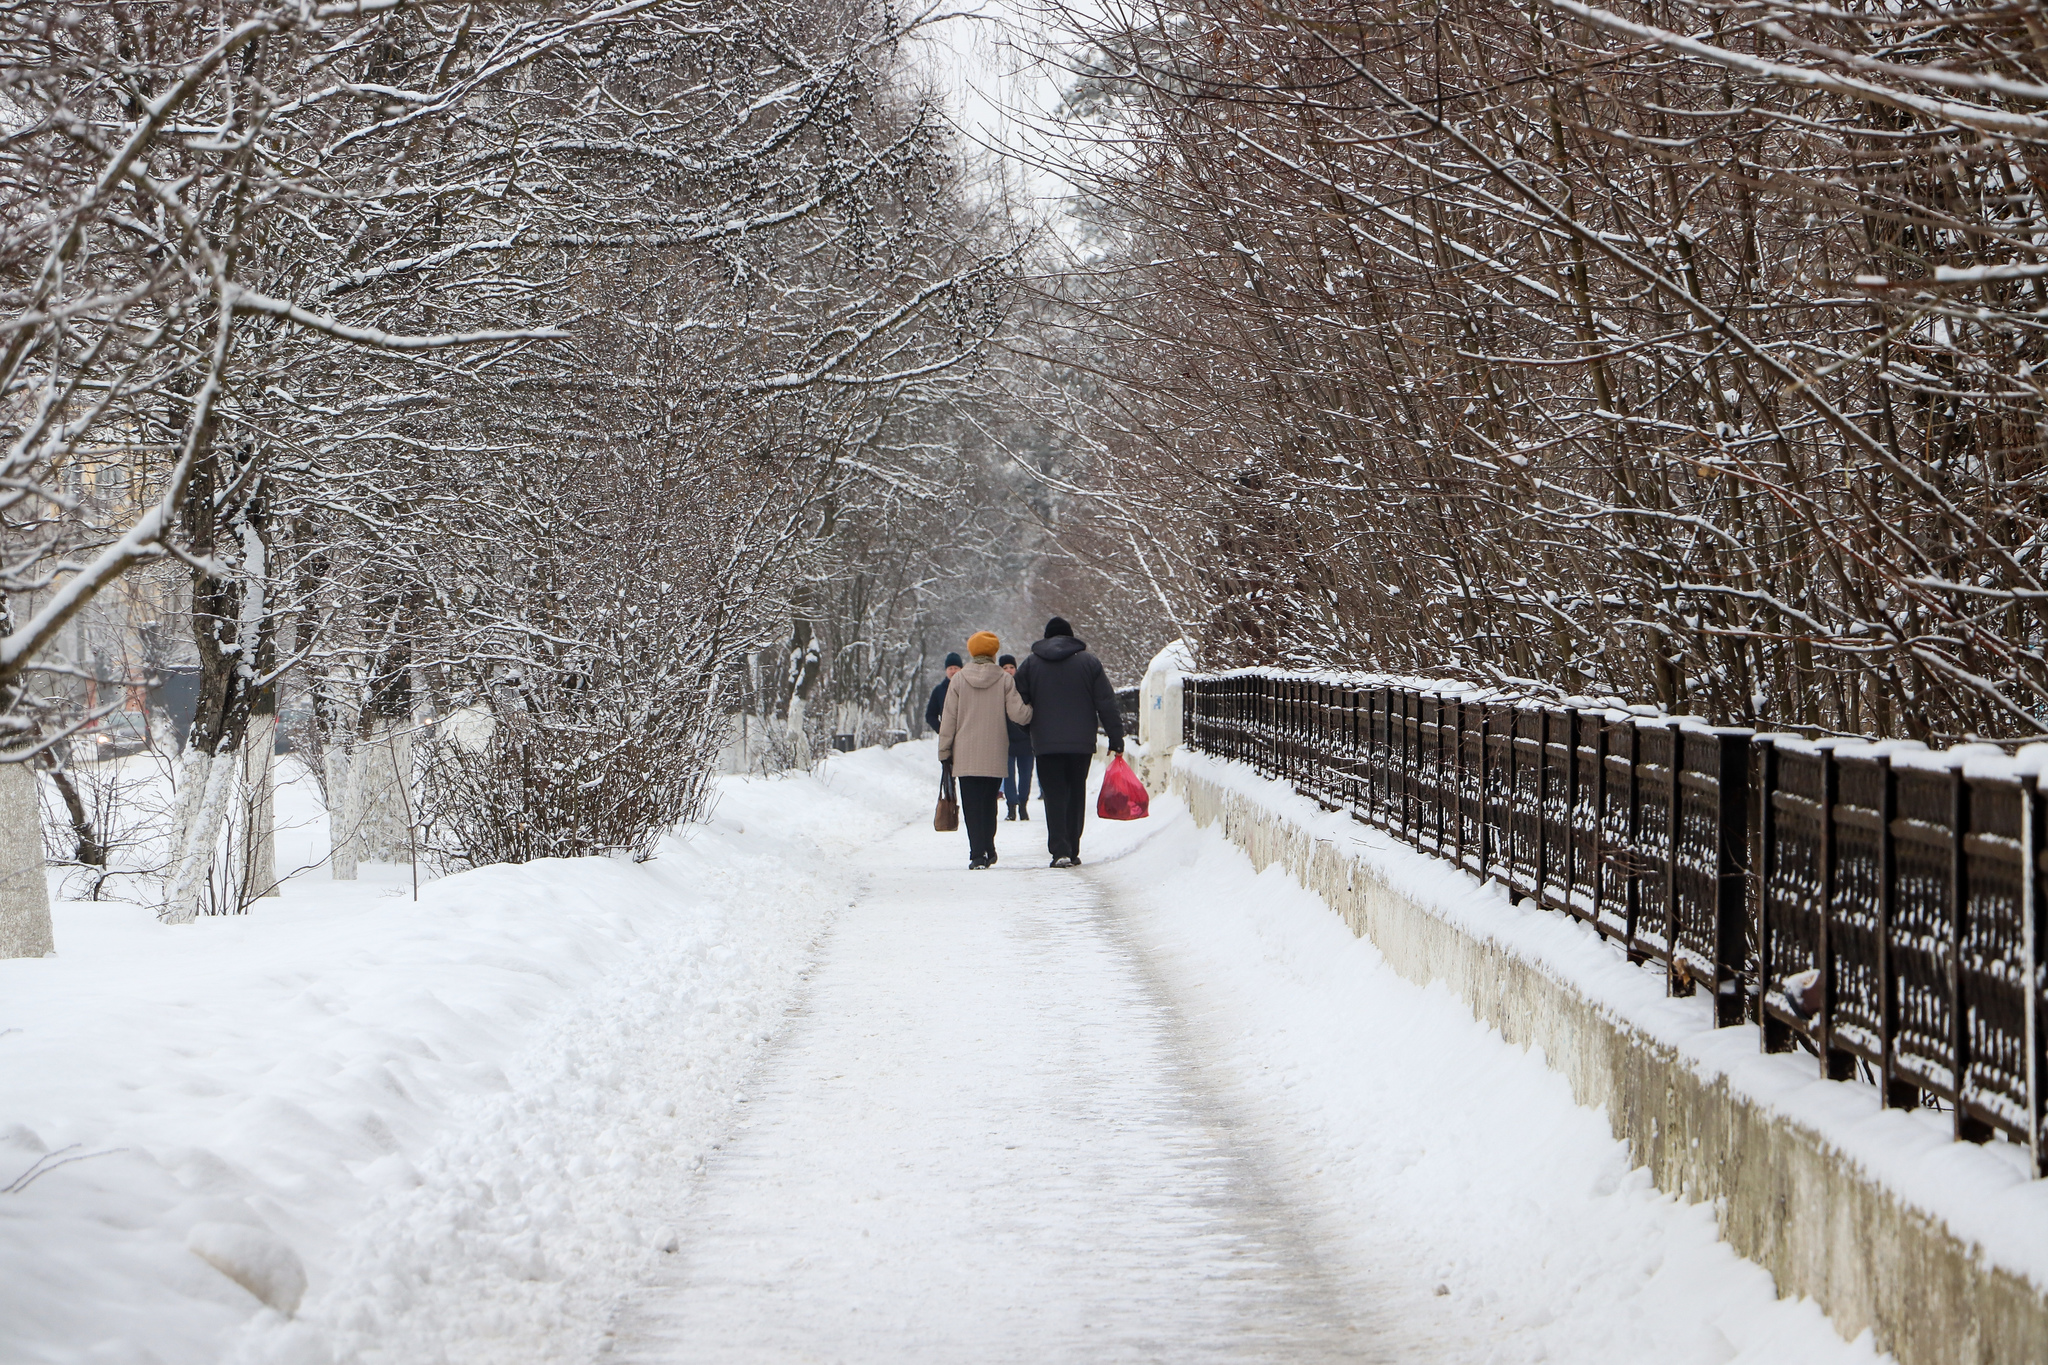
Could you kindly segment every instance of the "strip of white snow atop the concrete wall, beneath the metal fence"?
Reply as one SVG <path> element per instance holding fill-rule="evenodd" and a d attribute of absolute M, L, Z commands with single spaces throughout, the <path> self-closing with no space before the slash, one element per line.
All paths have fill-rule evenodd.
<path fill-rule="evenodd" d="M 2044 751 L 2030 747 L 2019 759 L 2001 763 L 2028 767 Z M 1905 749 L 1894 747 L 1894 753 Z M 1970 757 L 1978 755 L 1972 751 Z M 1190 776 L 1257 800 L 1315 839 L 1350 849 L 1395 892 L 1464 933 L 1538 964 L 1610 1017 L 1675 1048 L 1706 1078 L 1726 1076 L 1737 1095 L 1821 1134 L 1843 1160 L 1909 1207 L 1946 1224 L 1966 1244 L 1974 1242 L 1989 1265 L 2048 1291 L 2048 1181 L 2030 1177 L 2023 1148 L 2003 1140 L 1982 1146 L 1954 1142 L 1948 1115 L 1882 1109 L 1876 1087 L 1823 1081 L 1804 1052 L 1763 1054 L 1755 1025 L 1716 1029 L 1706 995 L 1667 997 L 1655 966 L 1630 966 L 1587 925 L 1530 902 L 1509 905 L 1501 884 L 1481 884 L 1346 812 L 1323 810 L 1284 782 L 1192 751 L 1176 753 L 1174 761 Z M 1284 874 L 1268 870 L 1268 876 Z M 1294 886 L 1290 878 L 1286 884 Z M 1311 900 L 1321 905 L 1315 896 Z M 1333 913 L 1325 909 L 1325 915 L 1341 937 L 1350 937 Z"/>

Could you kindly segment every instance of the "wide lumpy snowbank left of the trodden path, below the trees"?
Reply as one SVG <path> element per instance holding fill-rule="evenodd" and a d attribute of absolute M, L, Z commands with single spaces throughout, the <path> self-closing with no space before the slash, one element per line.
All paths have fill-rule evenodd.
<path fill-rule="evenodd" d="M 418 902 L 309 874 L 180 927 L 59 905 L 57 958 L 0 962 L 0 1357 L 590 1355 L 856 894 L 848 843 L 899 823 L 864 788 L 907 802 L 924 749 L 727 780 L 643 866 Z"/>

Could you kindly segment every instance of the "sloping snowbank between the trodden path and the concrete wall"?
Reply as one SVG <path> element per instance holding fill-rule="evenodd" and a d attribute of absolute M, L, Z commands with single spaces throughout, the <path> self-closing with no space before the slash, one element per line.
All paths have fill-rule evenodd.
<path fill-rule="evenodd" d="M 1395 974 L 1319 896 L 1280 868 L 1253 874 L 1171 798 L 1153 810 L 1153 837 L 1102 882 L 1210 1081 L 1376 1306 L 1386 1359 L 1888 1359 L 1778 1300 L 1712 1209 L 1630 1169 L 1540 1056 Z"/>

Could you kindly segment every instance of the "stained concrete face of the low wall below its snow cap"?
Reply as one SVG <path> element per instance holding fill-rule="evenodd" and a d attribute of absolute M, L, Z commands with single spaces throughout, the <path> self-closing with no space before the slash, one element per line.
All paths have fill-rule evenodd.
<path fill-rule="evenodd" d="M 1847 1338 L 1868 1328 L 1903 1365 L 2048 1363 L 2048 1300 L 1980 1265 L 1948 1228 L 1901 1205 L 1819 1134 L 1733 1095 L 1724 1078 L 1708 1081 L 1671 1048 L 1393 892 L 1262 802 L 1169 755 L 1147 769 L 1198 825 L 1221 821 L 1260 870 L 1280 864 L 1323 896 L 1397 972 L 1444 982 L 1503 1038 L 1542 1048 L 1581 1105 L 1606 1107 L 1614 1136 L 1659 1189 L 1714 1203 L 1722 1238 L 1765 1267 L 1778 1293 L 1812 1297 Z"/>

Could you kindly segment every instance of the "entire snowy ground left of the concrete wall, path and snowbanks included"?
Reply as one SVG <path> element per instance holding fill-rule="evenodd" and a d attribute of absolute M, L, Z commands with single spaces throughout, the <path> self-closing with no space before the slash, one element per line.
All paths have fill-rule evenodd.
<path fill-rule="evenodd" d="M 1874 1359 L 1171 798 L 971 874 L 932 776 L 61 907 L 0 964 L 0 1361 Z"/>

